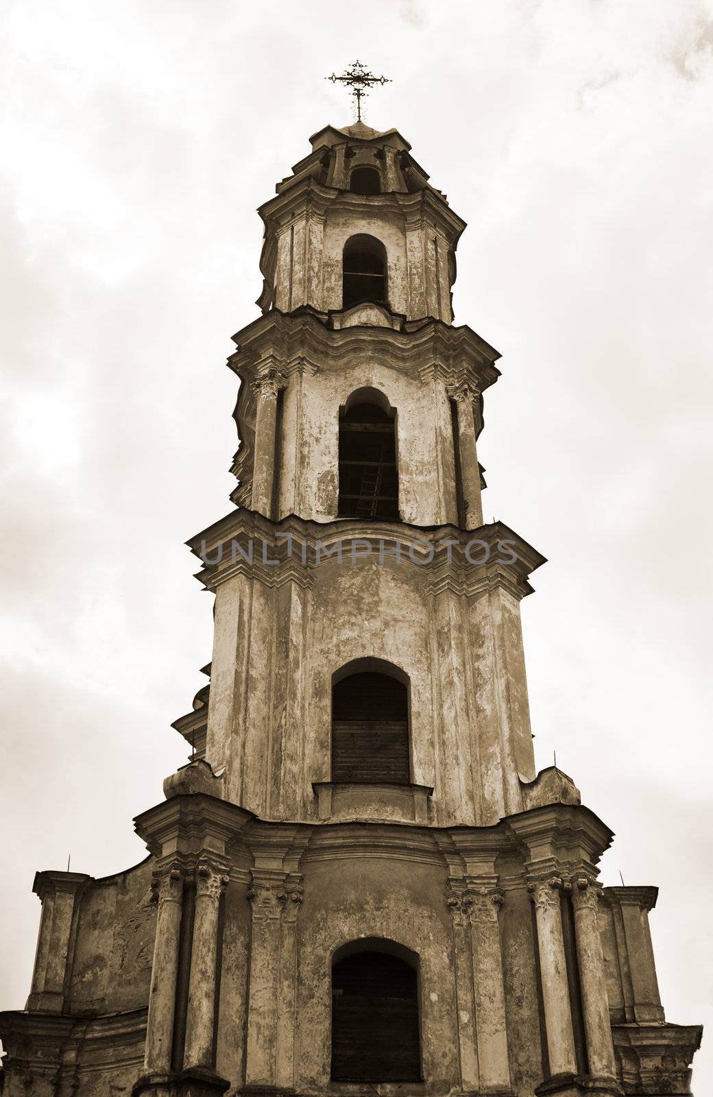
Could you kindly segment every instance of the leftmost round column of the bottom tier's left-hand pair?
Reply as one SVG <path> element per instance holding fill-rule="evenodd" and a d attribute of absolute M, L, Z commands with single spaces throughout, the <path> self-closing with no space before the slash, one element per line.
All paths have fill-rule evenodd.
<path fill-rule="evenodd" d="M 147 1071 L 168 1073 L 171 1068 L 176 980 L 178 975 L 183 873 L 177 862 L 154 874 L 154 900 L 158 902 L 151 987 L 146 1022 Z"/>

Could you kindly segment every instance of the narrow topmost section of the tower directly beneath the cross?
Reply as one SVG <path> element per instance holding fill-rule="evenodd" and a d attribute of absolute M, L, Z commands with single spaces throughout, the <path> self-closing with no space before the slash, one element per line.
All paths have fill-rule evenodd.
<path fill-rule="evenodd" d="M 308 307 L 330 327 L 452 324 L 455 248 L 465 222 L 429 182 L 398 129 L 327 125 L 259 208 L 258 305 Z M 369 318 L 363 308 L 369 303 Z M 349 313 L 349 315 L 344 315 Z"/>

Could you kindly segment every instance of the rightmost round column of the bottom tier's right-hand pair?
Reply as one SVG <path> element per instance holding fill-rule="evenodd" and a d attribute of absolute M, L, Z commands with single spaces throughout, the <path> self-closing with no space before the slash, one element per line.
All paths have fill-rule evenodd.
<path fill-rule="evenodd" d="M 616 1068 L 604 983 L 604 961 L 597 923 L 599 890 L 592 886 L 587 877 L 573 880 L 571 904 L 575 912 L 575 937 L 589 1073 L 613 1078 Z"/>

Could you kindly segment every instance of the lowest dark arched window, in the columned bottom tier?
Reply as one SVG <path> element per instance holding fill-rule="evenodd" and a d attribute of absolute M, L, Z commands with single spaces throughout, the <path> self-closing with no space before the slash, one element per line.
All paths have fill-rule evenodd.
<path fill-rule="evenodd" d="M 418 957 L 364 938 L 331 969 L 331 1079 L 420 1082 Z"/>

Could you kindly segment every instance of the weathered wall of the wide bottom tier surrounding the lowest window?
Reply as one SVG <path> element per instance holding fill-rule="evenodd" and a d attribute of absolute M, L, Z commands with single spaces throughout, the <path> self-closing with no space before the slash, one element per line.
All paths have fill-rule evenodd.
<path fill-rule="evenodd" d="M 577 984 L 564 972 L 585 980 L 576 993 L 586 1004 L 593 969 L 581 964 L 602 954 L 626 1092 L 687 1092 L 700 1029 L 666 1025 L 657 995 L 652 1000 L 647 915 L 655 889 L 608 889 L 599 902 L 595 862 L 611 833 L 587 808 L 551 804 L 480 828 L 271 824 L 200 794 L 205 781 L 219 783 L 205 764 L 189 767 L 183 782 L 169 787 L 170 799 L 137 819 L 157 859 L 84 885 L 65 1011 L 3 1015 L 8 1097 L 26 1097 L 29 1085 L 33 1097 L 116 1097 L 145 1074 L 154 1047 L 145 1044 L 151 873 L 159 907 L 169 898 L 170 875 L 179 911 L 193 926 L 191 937 L 174 919 L 172 943 L 159 949 L 173 953 L 179 970 L 167 1063 L 180 1071 L 177 1048 L 185 1049 L 183 1065 L 190 1061 L 192 1006 L 189 997 L 186 1011 L 180 986 L 195 986 L 211 1014 L 215 1008 L 201 1062 L 229 1082 L 230 1095 L 245 1085 L 313 1097 L 367 1092 L 330 1082 L 331 965 L 338 949 L 364 939 L 415 957 L 423 1071 L 417 1088 L 427 1097 L 532 1097 L 547 1077 L 547 1049 L 552 1055 L 561 1045 L 557 1014 L 575 1010 Z M 52 874 L 54 887 L 61 877 Z M 78 883 L 76 874 L 64 877 L 67 885 Z M 215 916 L 202 927 L 197 906 L 190 913 L 196 892 L 213 896 Z M 541 937 L 542 909 L 558 925 L 569 904 L 595 920 L 576 921 L 569 946 L 562 936 L 558 945 L 556 935 Z M 206 947 L 215 965 L 203 971 Z M 564 977 L 555 997 L 537 968 L 553 948 Z M 600 1040 L 601 1028 L 587 1032 L 590 1053 Z"/>

